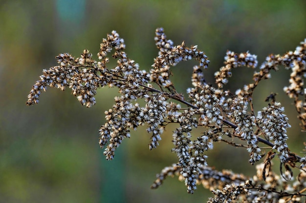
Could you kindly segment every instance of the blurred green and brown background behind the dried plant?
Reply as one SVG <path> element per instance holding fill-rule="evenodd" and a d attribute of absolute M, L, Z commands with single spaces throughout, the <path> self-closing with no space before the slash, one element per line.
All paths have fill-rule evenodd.
<path fill-rule="evenodd" d="M 55 56 L 84 49 L 93 55 L 107 33 L 116 30 L 126 42 L 126 52 L 149 70 L 158 50 L 153 37 L 165 29 L 175 44 L 183 40 L 211 60 L 205 72 L 213 83 L 226 50 L 250 51 L 259 63 L 270 54 L 294 50 L 306 37 L 305 0 L 1 0 L 0 1 L 0 203 L 153 203 L 205 202 L 211 194 L 199 186 L 187 194 L 184 183 L 168 178 L 151 190 L 155 174 L 176 162 L 167 129 L 160 146 L 150 151 L 145 128 L 123 141 L 115 159 L 106 161 L 98 145 L 104 111 L 113 103 L 116 89 L 98 91 L 97 104 L 81 106 L 69 89 L 48 88 L 40 103 L 27 107 L 32 85 L 43 69 L 56 65 Z M 180 92 L 191 86 L 195 61 L 173 68 Z M 253 70 L 233 71 L 229 85 L 235 91 L 252 80 Z M 283 87 L 289 71 L 272 73 L 255 92 L 259 111 L 264 98 L 278 92 L 292 128 L 289 147 L 300 152 L 301 133 L 292 101 Z M 173 128 L 172 128 L 173 127 Z M 245 149 L 216 144 L 209 165 L 252 175 Z"/>

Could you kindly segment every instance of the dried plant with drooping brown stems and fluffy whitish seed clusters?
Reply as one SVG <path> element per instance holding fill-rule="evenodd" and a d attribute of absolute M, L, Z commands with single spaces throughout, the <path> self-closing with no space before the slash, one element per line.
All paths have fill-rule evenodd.
<path fill-rule="evenodd" d="M 258 64 L 256 55 L 228 51 L 224 66 L 215 73 L 217 85 L 214 87 L 205 81 L 203 70 L 208 68 L 209 60 L 197 46 L 186 47 L 184 42 L 174 46 L 163 28 L 156 29 L 154 40 L 159 52 L 149 73 L 139 70 L 138 64 L 127 56 L 124 40 L 115 31 L 103 39 L 99 61 L 92 59 L 88 50 L 78 58 L 60 54 L 56 57 L 58 66 L 43 71 L 26 104 L 37 104 L 41 92 L 49 86 L 61 90 L 69 87 L 82 105 L 91 107 L 95 104 L 98 88 L 116 87 L 120 96 L 115 97 L 115 104 L 105 111 L 106 123 L 99 129 L 99 144 L 105 148 L 106 159 L 114 158 L 122 140 L 131 136 L 131 129 L 146 125 L 151 134 L 149 148 L 153 149 L 158 146 L 167 124 L 177 124 L 172 151 L 178 161 L 157 174 L 152 188 L 161 185 L 166 177 L 177 175 L 185 182 L 188 193 L 194 193 L 199 184 L 210 189 L 214 197 L 209 198 L 209 203 L 305 201 L 306 156 L 300 157 L 288 148 L 286 130 L 290 125 L 284 107 L 276 101 L 276 94 L 271 93 L 266 98 L 267 106 L 256 113 L 252 97 L 258 84 L 271 77 L 271 70 L 277 71 L 279 66 L 291 70 L 289 85 L 284 87 L 284 92 L 294 99 L 301 127 L 306 130 L 303 80 L 306 76 L 306 39 L 294 52 L 267 56 L 259 71 L 255 71 L 254 82 L 235 93 L 224 91 L 223 85 L 228 83 L 233 68 L 255 69 Z M 113 49 L 112 57 L 117 58 L 117 65 L 109 69 L 107 56 Z M 193 67 L 193 87 L 187 89 L 188 98 L 185 99 L 171 82 L 170 68 L 192 58 L 199 64 Z M 139 99 L 146 102 L 145 106 L 137 103 Z M 193 140 L 191 132 L 198 127 L 203 131 Z M 250 155 L 249 163 L 258 163 L 257 174 L 246 177 L 207 166 L 206 152 L 213 149 L 215 142 L 225 142 L 235 148 L 245 147 Z M 275 157 L 280 161 L 279 174 L 271 167 Z M 296 179 L 293 168 L 300 169 Z"/>

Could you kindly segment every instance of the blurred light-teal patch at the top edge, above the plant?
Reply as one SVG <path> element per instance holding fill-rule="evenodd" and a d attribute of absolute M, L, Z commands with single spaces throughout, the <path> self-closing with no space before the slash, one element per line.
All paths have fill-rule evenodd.
<path fill-rule="evenodd" d="M 58 17 L 76 23 L 85 17 L 86 0 L 56 0 Z"/>

